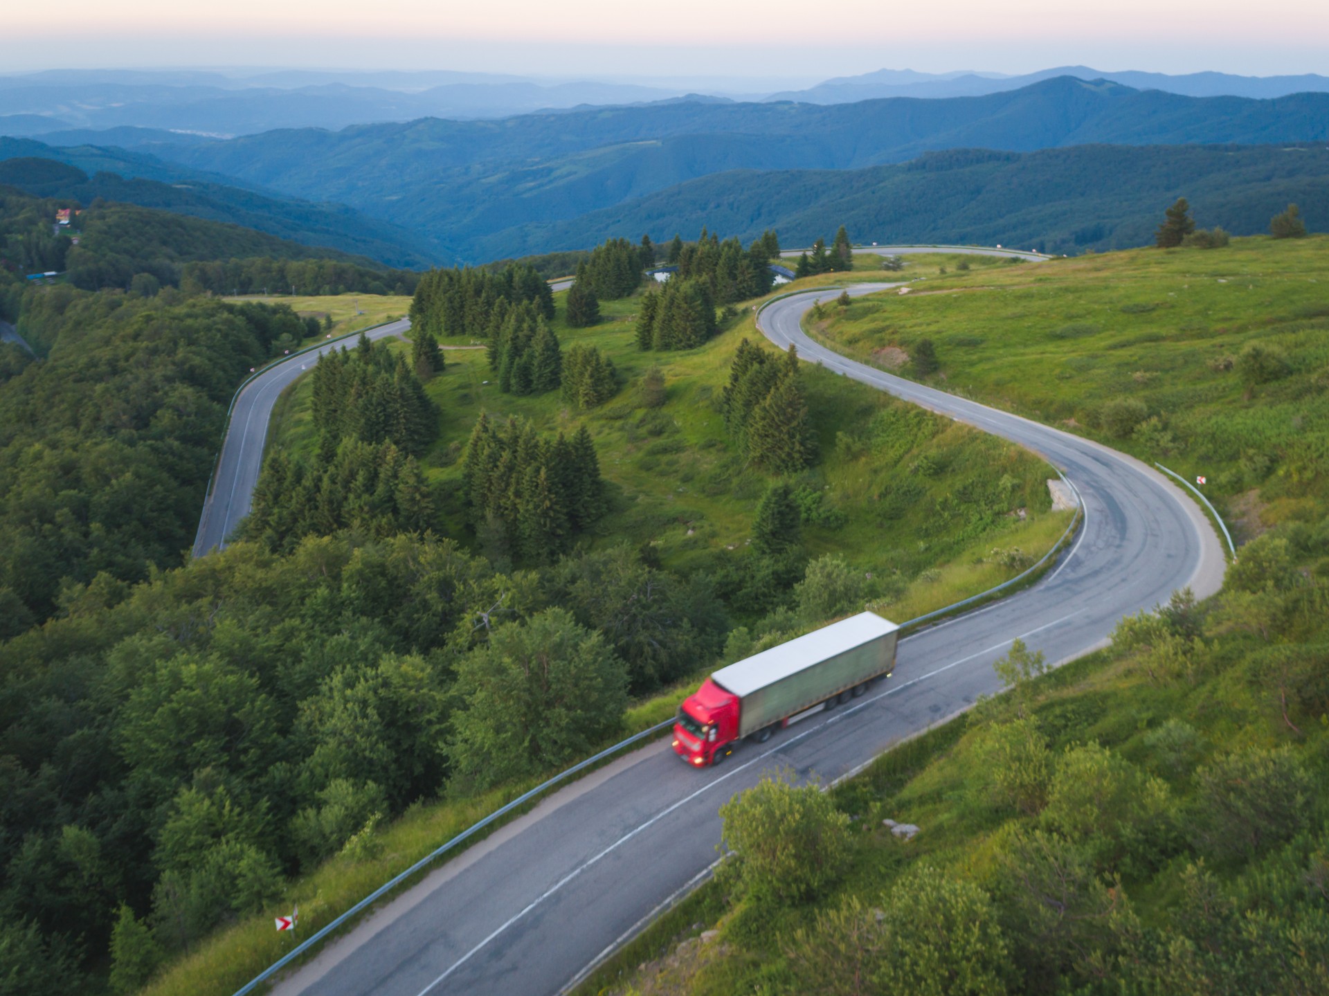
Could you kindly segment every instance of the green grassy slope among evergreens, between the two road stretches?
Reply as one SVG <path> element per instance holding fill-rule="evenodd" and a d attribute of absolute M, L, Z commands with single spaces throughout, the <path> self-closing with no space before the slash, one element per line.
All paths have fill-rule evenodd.
<path fill-rule="evenodd" d="M 933 261 L 920 266 L 936 271 Z M 571 434 L 585 423 L 611 488 L 611 511 L 591 543 L 626 540 L 650 547 L 670 569 L 723 572 L 747 547 L 754 509 L 769 481 L 744 465 L 718 408 L 739 340 L 766 346 L 751 312 L 699 350 L 657 354 L 638 351 L 633 339 L 639 297 L 605 302 L 605 320 L 585 330 L 563 322 L 565 298 L 556 295 L 554 322 L 563 348 L 590 343 L 603 350 L 618 368 L 619 392 L 587 414 L 571 410 L 557 392 L 504 395 L 485 383 L 493 375 L 484 348 L 444 340 L 449 366 L 427 386 L 440 411 L 439 441 L 423 460 L 440 489 L 444 535 L 474 541 L 464 525 L 460 456 L 481 411 L 520 415 L 541 431 Z M 322 310 L 318 301 L 298 307 L 302 314 L 306 303 Z M 667 391 L 664 406 L 655 410 L 641 396 L 641 376 L 653 364 L 663 371 Z M 845 516 L 837 528 L 805 525 L 804 545 L 811 557 L 839 553 L 870 574 L 868 589 L 884 613 L 908 618 L 998 584 L 1065 529 L 1066 515 L 1047 511 L 1046 479 L 1053 472 L 1041 460 L 820 367 L 804 367 L 803 376 L 823 457 L 795 483 L 821 492 L 823 505 Z M 274 445 L 314 452 L 310 392 L 306 380 L 283 398 Z M 962 512 L 966 503 L 971 508 Z M 998 557 L 998 549 L 1018 552 Z"/>

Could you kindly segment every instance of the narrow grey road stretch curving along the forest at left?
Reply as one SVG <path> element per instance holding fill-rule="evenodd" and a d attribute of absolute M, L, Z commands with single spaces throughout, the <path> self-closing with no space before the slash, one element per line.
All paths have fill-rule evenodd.
<path fill-rule="evenodd" d="M 384 339 L 401 335 L 409 327 L 411 322 L 401 319 L 371 328 L 365 335 L 369 339 Z M 282 391 L 306 370 L 311 370 L 319 356 L 351 344 L 350 336 L 343 336 L 316 350 L 299 352 L 274 363 L 237 392 L 226 436 L 222 439 L 222 452 L 217 459 L 213 487 L 203 500 L 203 515 L 198 520 L 193 549 L 195 557 L 225 548 L 231 531 L 249 515 L 254 485 L 258 484 L 258 472 L 263 465 L 267 424 Z"/>

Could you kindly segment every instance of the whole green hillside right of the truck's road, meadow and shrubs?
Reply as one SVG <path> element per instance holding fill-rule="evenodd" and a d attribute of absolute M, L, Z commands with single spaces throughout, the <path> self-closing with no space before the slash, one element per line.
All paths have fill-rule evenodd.
<path fill-rule="evenodd" d="M 1325 992 L 1326 250 L 975 267 L 821 323 L 905 375 L 928 338 L 940 386 L 1204 473 L 1260 535 L 1223 593 L 1126 620 L 1107 650 L 1045 677 L 1013 650 L 1005 695 L 829 806 L 776 787 L 779 818 L 727 810 L 731 844 L 768 818 L 581 992 Z M 1241 382 L 1253 347 L 1273 379 Z M 789 827 L 784 886 L 820 872 L 801 898 L 771 878 Z"/>

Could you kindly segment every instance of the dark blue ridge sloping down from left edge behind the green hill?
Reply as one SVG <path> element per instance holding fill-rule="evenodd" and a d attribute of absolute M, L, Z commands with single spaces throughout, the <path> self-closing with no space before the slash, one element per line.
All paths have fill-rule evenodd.
<path fill-rule="evenodd" d="M 33 161 L 49 165 L 35 169 Z M 56 169 L 56 164 L 64 164 L 65 169 Z M 0 138 L 0 184 L 39 197 L 82 203 L 102 198 L 229 222 L 303 243 L 315 249 L 310 255 L 324 258 L 367 257 L 380 265 L 419 269 L 435 257 L 428 238 L 344 205 L 270 195 L 221 180 L 120 149 L 56 148 L 32 140 Z"/>

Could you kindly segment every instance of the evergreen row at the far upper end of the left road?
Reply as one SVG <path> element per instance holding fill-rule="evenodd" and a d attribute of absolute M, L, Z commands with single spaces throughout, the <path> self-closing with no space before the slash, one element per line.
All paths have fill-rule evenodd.
<path fill-rule="evenodd" d="M 509 306 L 530 303 L 546 320 L 554 295 L 545 278 L 522 263 L 490 270 L 431 270 L 420 277 L 411 302 L 411 327 L 431 335 L 493 338 Z"/>

